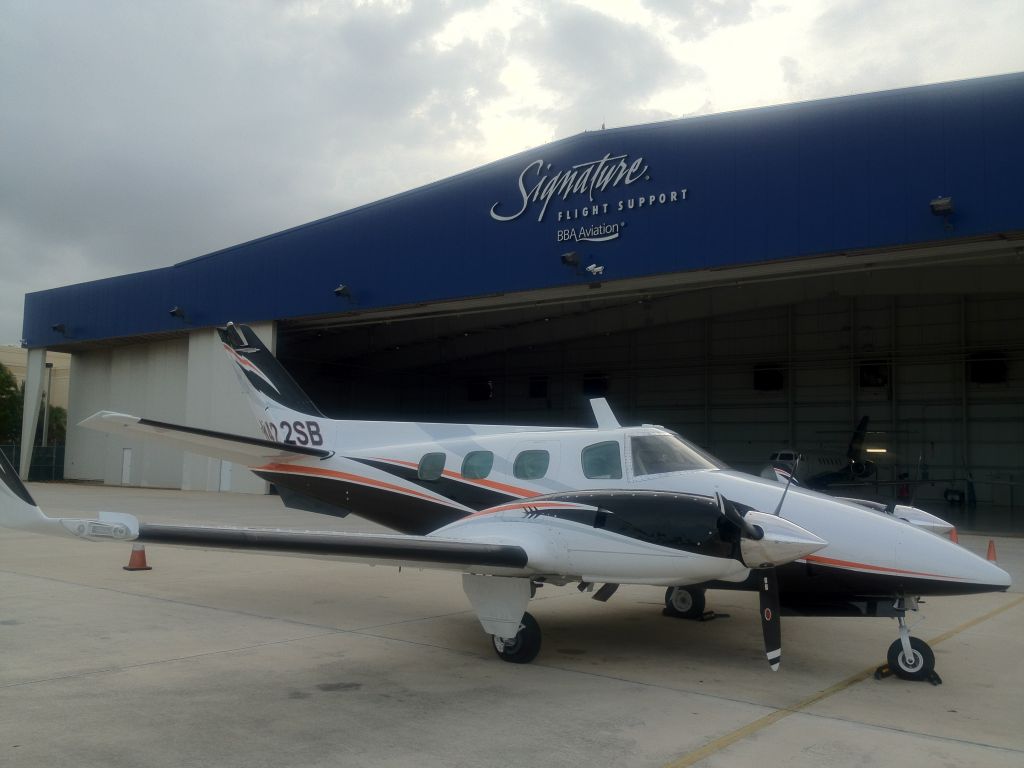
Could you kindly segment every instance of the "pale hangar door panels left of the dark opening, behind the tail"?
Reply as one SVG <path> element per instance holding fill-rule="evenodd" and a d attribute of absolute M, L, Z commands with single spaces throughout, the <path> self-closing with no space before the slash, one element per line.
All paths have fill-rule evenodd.
<path fill-rule="evenodd" d="M 254 325 L 272 350 L 274 324 Z M 260 437 L 214 329 L 72 355 L 69 424 L 97 411 Z M 69 429 L 65 477 L 111 485 L 265 494 L 245 467 L 160 442 Z"/>

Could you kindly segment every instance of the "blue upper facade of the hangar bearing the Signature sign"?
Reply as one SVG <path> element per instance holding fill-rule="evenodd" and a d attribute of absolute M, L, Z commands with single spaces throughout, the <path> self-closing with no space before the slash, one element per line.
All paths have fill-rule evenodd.
<path fill-rule="evenodd" d="M 1022 74 L 587 132 L 172 267 L 29 294 L 24 335 L 59 345 L 178 330 L 172 306 L 193 326 L 284 319 L 994 237 L 1024 230 L 1022 137 Z M 946 196 L 952 229 L 929 207 Z"/>

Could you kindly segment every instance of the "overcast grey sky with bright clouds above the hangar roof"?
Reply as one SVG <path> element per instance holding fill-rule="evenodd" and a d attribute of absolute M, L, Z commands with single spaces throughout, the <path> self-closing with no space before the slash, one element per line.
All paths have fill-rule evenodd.
<path fill-rule="evenodd" d="M 1024 0 L 0 0 L 0 343 L 588 129 L 1024 71 Z"/>

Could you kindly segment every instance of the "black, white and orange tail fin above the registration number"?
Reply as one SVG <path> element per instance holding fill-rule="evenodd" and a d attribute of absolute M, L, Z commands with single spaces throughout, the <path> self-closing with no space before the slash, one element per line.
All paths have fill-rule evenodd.
<path fill-rule="evenodd" d="M 249 326 L 228 323 L 226 328 L 217 329 L 217 333 L 239 378 L 249 390 L 258 419 L 281 410 L 325 418 Z"/>

